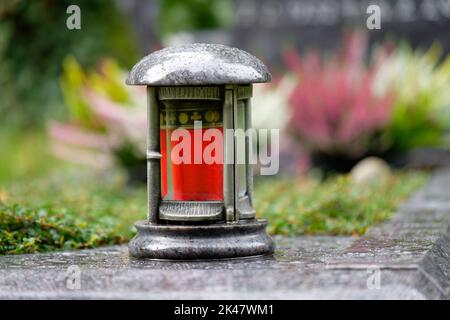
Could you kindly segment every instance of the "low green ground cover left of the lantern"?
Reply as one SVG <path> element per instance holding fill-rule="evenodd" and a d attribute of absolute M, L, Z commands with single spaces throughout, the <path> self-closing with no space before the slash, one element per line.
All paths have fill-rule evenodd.
<path fill-rule="evenodd" d="M 82 171 L 0 187 L 0 254 L 123 243 L 145 208 L 143 188 Z"/>

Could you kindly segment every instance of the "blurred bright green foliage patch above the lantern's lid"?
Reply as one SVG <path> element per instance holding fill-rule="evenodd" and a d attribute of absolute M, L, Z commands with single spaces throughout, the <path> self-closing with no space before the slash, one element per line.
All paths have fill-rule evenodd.
<path fill-rule="evenodd" d="M 161 37 L 180 31 L 217 29 L 232 23 L 230 0 L 162 0 L 160 4 Z"/>

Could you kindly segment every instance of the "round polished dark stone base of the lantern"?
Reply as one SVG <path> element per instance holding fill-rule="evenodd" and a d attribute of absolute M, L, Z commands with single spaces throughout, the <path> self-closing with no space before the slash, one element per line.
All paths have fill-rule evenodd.
<path fill-rule="evenodd" d="M 128 244 L 137 258 L 196 260 L 228 259 L 273 253 L 266 220 L 208 225 L 135 224 L 138 233 Z"/>

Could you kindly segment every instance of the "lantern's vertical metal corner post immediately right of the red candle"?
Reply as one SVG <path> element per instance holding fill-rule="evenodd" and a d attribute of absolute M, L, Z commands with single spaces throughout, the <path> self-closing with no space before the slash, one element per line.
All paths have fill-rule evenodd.
<path fill-rule="evenodd" d="M 226 85 L 223 104 L 223 201 L 227 222 L 235 221 L 234 134 L 228 133 L 228 129 L 234 129 L 234 96 L 234 86 Z"/>

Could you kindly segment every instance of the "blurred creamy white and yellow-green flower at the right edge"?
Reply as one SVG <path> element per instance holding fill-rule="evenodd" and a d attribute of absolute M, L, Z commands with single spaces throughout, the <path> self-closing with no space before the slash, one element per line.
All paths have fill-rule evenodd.
<path fill-rule="evenodd" d="M 409 150 L 441 142 L 450 125 L 450 55 L 403 45 L 380 66 L 373 83 L 378 96 L 394 92 L 393 115 L 387 128 L 391 147 Z"/>

